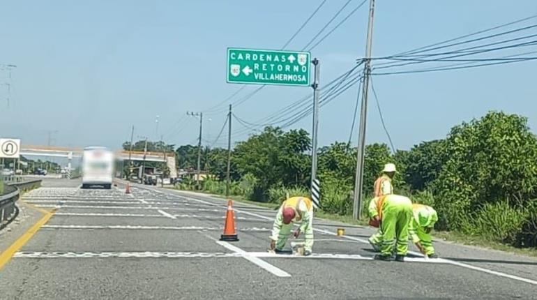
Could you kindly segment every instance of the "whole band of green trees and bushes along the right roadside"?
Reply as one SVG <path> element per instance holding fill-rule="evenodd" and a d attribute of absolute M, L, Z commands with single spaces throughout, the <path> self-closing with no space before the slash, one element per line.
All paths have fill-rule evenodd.
<path fill-rule="evenodd" d="M 310 150 L 310 137 L 302 129 L 266 127 L 250 135 L 232 151 L 231 195 L 271 204 L 279 204 L 287 194 L 308 195 Z M 201 190 L 224 195 L 227 150 L 204 148 L 202 153 L 202 170 L 209 178 Z M 176 154 L 179 167 L 195 168 L 197 147 L 183 145 Z M 367 145 L 367 200 L 385 163 L 397 165 L 395 193 L 437 209 L 439 235 L 450 232 L 517 248 L 537 246 L 537 138 L 527 118 L 489 112 L 454 126 L 444 139 L 395 153 L 386 144 Z M 356 148 L 347 142 L 319 149 L 319 216 L 350 220 L 355 168 Z M 195 190 L 195 182 L 187 178 L 176 188 Z"/>

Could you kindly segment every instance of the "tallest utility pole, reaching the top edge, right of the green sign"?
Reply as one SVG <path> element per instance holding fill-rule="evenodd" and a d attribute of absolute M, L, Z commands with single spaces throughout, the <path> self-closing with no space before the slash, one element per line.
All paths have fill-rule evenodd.
<path fill-rule="evenodd" d="M 363 156 L 365 151 L 365 121 L 368 114 L 368 90 L 371 73 L 371 47 L 373 40 L 373 15 L 375 12 L 375 0 L 369 2 L 368 40 L 365 45 L 365 63 L 363 67 L 362 103 L 360 110 L 360 128 L 358 130 L 358 153 L 356 155 L 356 180 L 354 182 L 354 203 L 352 218 L 357 220 L 362 213 L 362 190 L 363 190 Z"/>

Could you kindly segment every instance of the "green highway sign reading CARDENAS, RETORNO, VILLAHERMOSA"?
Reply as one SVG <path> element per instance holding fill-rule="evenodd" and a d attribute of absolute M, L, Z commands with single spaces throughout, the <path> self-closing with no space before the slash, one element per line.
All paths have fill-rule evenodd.
<path fill-rule="evenodd" d="M 310 52 L 227 48 L 227 82 L 310 85 Z"/>

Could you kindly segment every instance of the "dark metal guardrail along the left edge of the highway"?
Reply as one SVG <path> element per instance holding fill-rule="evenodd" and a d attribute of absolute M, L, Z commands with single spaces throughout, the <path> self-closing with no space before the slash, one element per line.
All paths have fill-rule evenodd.
<path fill-rule="evenodd" d="M 12 182 L 3 186 L 3 195 L 0 195 L 0 230 L 6 227 L 19 215 L 19 208 L 15 202 L 21 193 L 41 186 L 41 180 Z"/>

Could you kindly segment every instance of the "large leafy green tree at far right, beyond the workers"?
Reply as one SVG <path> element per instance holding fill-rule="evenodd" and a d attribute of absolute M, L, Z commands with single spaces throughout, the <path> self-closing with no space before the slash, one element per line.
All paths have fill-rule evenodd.
<path fill-rule="evenodd" d="M 460 229 L 487 203 L 523 205 L 537 196 L 537 140 L 525 117 L 489 112 L 453 127 L 445 147 L 446 162 L 431 184 L 442 227 Z"/>

